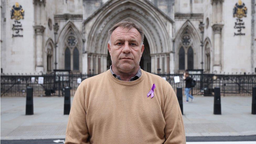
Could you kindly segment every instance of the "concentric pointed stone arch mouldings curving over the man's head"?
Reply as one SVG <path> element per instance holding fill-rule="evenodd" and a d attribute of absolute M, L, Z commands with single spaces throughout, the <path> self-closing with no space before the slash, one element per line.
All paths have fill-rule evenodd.
<path fill-rule="evenodd" d="M 93 14 L 94 18 L 89 17 L 83 22 L 83 29 L 90 29 L 85 33 L 88 36 L 85 44 L 86 51 L 107 55 L 108 30 L 114 24 L 124 20 L 142 26 L 151 54 L 171 51 L 172 34 L 167 33 L 167 29 L 172 29 L 173 21 L 167 19 L 169 23 L 164 22 L 164 15 L 159 14 L 152 7 L 154 6 L 150 3 L 139 0 L 109 1 Z"/>

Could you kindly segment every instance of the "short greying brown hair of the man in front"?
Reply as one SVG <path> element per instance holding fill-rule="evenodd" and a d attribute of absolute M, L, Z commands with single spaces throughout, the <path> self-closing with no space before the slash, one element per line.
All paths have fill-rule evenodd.
<path fill-rule="evenodd" d="M 123 22 L 119 22 L 117 24 L 115 24 L 109 31 L 108 31 L 108 43 L 111 44 L 111 34 L 113 33 L 113 31 L 118 28 L 127 28 L 128 30 L 135 28 L 139 31 L 140 35 L 141 35 L 141 45 L 143 44 L 144 41 L 144 32 L 142 30 L 142 27 L 133 23 L 133 22 L 127 22 L 127 21 L 123 21 Z"/>

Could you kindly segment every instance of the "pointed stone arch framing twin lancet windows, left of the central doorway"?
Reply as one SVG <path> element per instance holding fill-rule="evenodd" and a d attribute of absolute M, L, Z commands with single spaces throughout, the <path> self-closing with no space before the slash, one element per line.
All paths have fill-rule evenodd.
<path fill-rule="evenodd" d="M 60 34 L 57 38 L 57 59 L 58 59 L 58 68 L 59 69 L 64 69 L 65 68 L 65 50 L 67 45 L 67 37 L 70 36 L 72 33 L 72 36 L 76 39 L 76 44 L 75 47 L 77 48 L 79 52 L 79 70 L 82 70 L 82 52 L 83 52 L 83 41 L 82 41 L 82 34 L 81 32 L 77 29 L 76 25 L 69 19 L 67 20 L 66 24 L 63 26 L 63 28 L 60 31 Z M 73 50 L 70 50 L 71 54 L 71 70 L 73 70 Z"/>

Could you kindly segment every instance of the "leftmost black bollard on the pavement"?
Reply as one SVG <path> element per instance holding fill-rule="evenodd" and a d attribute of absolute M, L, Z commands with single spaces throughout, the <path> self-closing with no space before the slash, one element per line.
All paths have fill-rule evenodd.
<path fill-rule="evenodd" d="M 33 115 L 33 88 L 27 87 L 27 96 L 26 96 L 26 115 Z"/>

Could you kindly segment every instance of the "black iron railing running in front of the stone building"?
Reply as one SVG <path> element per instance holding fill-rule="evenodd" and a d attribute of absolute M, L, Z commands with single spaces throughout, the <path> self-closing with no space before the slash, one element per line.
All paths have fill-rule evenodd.
<path fill-rule="evenodd" d="M 24 96 L 26 87 L 34 88 L 34 96 L 58 95 L 63 96 L 64 87 L 71 87 L 71 95 L 74 95 L 79 85 L 79 79 L 83 81 L 95 74 L 41 74 L 41 75 L 1 75 L 1 97 L 2 96 Z M 183 74 L 157 74 L 165 77 L 173 89 L 185 88 Z M 179 76 L 180 82 L 174 82 L 174 76 Z M 193 74 L 190 75 L 196 86 L 192 89 L 193 95 L 212 95 L 214 87 L 220 87 L 221 95 L 251 95 L 252 87 L 256 86 L 256 74 Z M 40 83 L 39 77 L 43 77 Z M 48 91 L 48 94 L 46 93 Z M 184 93 L 184 92 L 183 92 Z"/>

